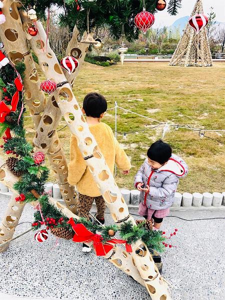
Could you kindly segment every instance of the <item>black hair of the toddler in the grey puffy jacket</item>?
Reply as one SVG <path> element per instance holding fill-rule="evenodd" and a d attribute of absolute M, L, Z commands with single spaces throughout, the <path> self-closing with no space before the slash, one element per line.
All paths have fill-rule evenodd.
<path fill-rule="evenodd" d="M 161 139 L 156 140 L 147 150 L 147 157 L 151 160 L 157 161 L 160 164 L 169 160 L 172 154 L 172 148 L 166 142 Z"/>

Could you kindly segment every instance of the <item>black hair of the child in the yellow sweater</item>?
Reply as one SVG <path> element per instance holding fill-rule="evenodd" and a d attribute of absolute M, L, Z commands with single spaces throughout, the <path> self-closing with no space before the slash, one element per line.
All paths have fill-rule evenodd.
<path fill-rule="evenodd" d="M 86 116 L 100 117 L 107 110 L 105 97 L 97 92 L 88 93 L 83 100 L 83 109 Z"/>

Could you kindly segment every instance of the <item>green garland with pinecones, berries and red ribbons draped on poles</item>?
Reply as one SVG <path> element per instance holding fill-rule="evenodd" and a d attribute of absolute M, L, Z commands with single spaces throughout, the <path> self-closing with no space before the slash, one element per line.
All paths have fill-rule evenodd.
<path fill-rule="evenodd" d="M 42 152 L 32 154 L 33 146 L 26 141 L 23 128 L 25 103 L 22 92 L 22 78 L 24 70 L 25 65 L 23 62 L 19 62 L 15 66 L 8 63 L 0 69 L 0 87 L 2 90 L 0 135 L 5 132 L 5 136 L 3 136 L 4 143 L 0 147 L 6 154 L 14 155 L 8 157 L 6 164 L 9 170 L 19 179 L 13 185 L 13 188 L 19 193 L 15 200 L 26 203 L 38 201 L 32 227 L 33 230 L 39 230 L 41 226 L 44 226 L 44 229 L 36 232 L 35 240 L 40 242 L 46 240 L 48 236 L 46 230 L 50 230 L 52 234 L 58 237 L 70 239 L 74 236 L 74 228 L 76 228 L 74 226 L 82 224 L 81 231 L 87 232 L 89 230 L 90 236 L 92 236 L 90 240 L 93 241 L 93 246 L 99 255 L 106 253 L 111 248 L 111 243 L 125 242 L 127 250 L 130 250 L 129 245 L 139 239 L 148 248 L 163 251 L 165 237 L 161 231 L 149 228 L 148 222 L 139 221 L 137 225 L 125 222 L 118 227 L 117 225 L 101 226 L 93 224 L 85 218 L 69 220 L 49 202 L 49 195 L 44 192 L 44 183 L 49 173 L 48 168 L 42 165 L 44 154 Z M 11 106 L 14 108 L 11 109 Z M 116 232 L 119 233 L 122 240 L 113 238 Z M 98 241 L 96 241 L 96 238 Z"/>

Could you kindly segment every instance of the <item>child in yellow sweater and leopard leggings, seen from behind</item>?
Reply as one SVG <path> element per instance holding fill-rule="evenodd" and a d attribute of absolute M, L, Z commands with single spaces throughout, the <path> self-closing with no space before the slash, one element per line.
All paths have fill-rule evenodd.
<path fill-rule="evenodd" d="M 124 150 L 115 139 L 111 128 L 100 122 L 104 112 L 107 110 L 105 98 L 96 93 L 88 93 L 83 100 L 82 112 L 86 114 L 86 121 L 90 132 L 96 139 L 98 146 L 108 167 L 113 173 L 114 164 L 118 166 L 123 174 L 128 174 L 131 167 L 130 161 Z M 89 218 L 89 211 L 95 199 L 97 213 L 96 218 L 103 224 L 105 202 L 101 193 L 94 182 L 92 175 L 87 168 L 86 161 L 83 159 L 77 146 L 74 135 L 70 137 L 70 162 L 68 164 L 68 183 L 75 185 L 78 191 L 78 216 Z M 88 252 L 91 248 L 83 244 L 83 251 Z"/>

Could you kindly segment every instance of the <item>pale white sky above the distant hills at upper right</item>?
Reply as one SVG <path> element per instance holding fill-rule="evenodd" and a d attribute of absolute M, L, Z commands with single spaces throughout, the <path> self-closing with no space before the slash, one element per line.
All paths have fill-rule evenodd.
<path fill-rule="evenodd" d="M 168 0 L 167 0 L 168 2 Z M 155 13 L 153 27 L 170 26 L 175 20 L 182 16 L 190 15 L 196 0 L 181 0 L 182 7 L 178 9 L 177 15 L 169 15 L 166 8 Z M 225 0 L 202 0 L 204 14 L 207 15 L 212 6 L 216 14 L 216 21 L 225 22 Z"/>

